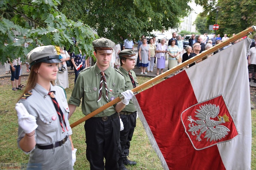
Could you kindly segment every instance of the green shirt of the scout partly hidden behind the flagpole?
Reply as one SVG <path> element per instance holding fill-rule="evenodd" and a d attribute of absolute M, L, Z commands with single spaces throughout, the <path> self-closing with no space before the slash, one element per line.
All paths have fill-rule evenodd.
<path fill-rule="evenodd" d="M 128 74 L 128 71 L 126 71 L 123 67 L 120 67 L 118 69 L 122 74 L 123 74 L 123 77 L 124 77 L 124 86 L 125 86 L 125 90 L 132 90 L 133 89 L 133 83 L 131 81 L 131 78 Z M 134 82 L 136 83 L 136 87 L 139 85 L 138 81 L 137 81 L 137 77 L 136 77 L 136 74 L 134 73 L 133 70 L 130 70 L 130 72 L 132 73 L 132 77 L 134 79 Z M 135 112 L 136 111 L 136 108 L 133 104 L 133 101 L 130 100 L 129 104 L 125 106 L 125 108 L 122 110 L 123 112 Z"/>

